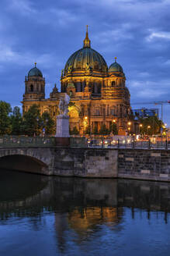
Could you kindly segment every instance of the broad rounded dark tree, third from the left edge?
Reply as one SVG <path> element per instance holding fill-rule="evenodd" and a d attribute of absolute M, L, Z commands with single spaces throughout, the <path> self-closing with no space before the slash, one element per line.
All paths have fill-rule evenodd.
<path fill-rule="evenodd" d="M 23 115 L 23 132 L 29 136 L 39 135 L 41 123 L 40 108 L 34 104 Z"/>

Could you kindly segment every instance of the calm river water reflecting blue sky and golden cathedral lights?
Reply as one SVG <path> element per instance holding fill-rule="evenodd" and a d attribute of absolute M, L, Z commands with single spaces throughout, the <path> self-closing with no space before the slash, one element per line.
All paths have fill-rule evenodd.
<path fill-rule="evenodd" d="M 27 255 L 26 250 L 30 255 L 35 247 L 40 255 L 121 255 L 123 244 L 130 245 L 124 236 L 132 236 L 133 225 L 143 230 L 144 224 L 147 233 L 151 231 L 146 219 L 154 222 L 161 236 L 162 232 L 169 236 L 170 226 L 167 230 L 164 226 L 169 212 L 169 183 L 0 172 L 0 252 L 4 255 Z M 36 238 L 35 232 L 39 234 Z M 20 237 L 20 233 L 24 235 Z M 9 240 L 18 246 L 16 251 Z M 21 247 L 23 240 L 29 240 L 29 248 Z M 158 241 L 154 242 L 155 247 Z M 164 250 L 169 248 L 166 242 Z M 131 246 L 130 254 L 137 250 Z"/>

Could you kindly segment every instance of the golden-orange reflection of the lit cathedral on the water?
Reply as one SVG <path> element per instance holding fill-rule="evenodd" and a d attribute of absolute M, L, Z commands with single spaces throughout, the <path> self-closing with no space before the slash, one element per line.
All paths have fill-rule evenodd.
<path fill-rule="evenodd" d="M 72 212 L 55 214 L 55 229 L 57 246 L 61 251 L 67 247 L 66 233 L 69 230 L 75 233 L 75 242 L 80 244 L 90 239 L 94 233 L 100 231 L 99 226 L 114 229 L 122 219 L 123 208 L 116 207 L 78 207 Z M 121 228 L 119 228 L 120 230 Z"/>

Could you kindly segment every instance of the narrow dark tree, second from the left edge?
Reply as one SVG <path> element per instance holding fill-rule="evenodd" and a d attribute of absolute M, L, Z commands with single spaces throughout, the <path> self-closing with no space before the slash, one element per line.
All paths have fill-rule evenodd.
<path fill-rule="evenodd" d="M 14 107 L 12 116 L 11 116 L 11 123 L 12 123 L 12 135 L 20 135 L 23 131 L 23 118 L 20 113 L 19 107 Z"/>

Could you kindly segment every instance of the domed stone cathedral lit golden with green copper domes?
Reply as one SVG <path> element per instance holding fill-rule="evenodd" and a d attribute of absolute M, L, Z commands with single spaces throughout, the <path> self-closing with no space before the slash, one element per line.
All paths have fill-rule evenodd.
<path fill-rule="evenodd" d="M 92 133 L 94 129 L 99 131 L 102 125 L 109 130 L 114 122 L 118 134 L 126 135 L 132 111 L 125 81 L 123 68 L 116 58 L 108 68 L 102 55 L 91 48 L 87 27 L 83 47 L 69 57 L 62 70 L 61 92 L 55 85 L 50 98 L 45 98 L 43 73 L 36 63 L 29 70 L 25 79 L 23 113 L 36 104 L 40 106 L 41 114 L 49 112 L 56 122 L 60 98 L 67 93 L 71 98 L 68 113 L 71 130 L 76 127 L 80 134 L 84 134 L 90 127 Z"/>

